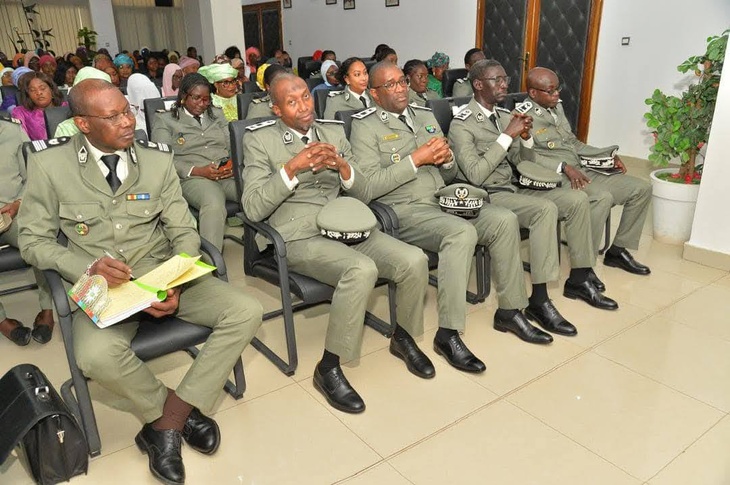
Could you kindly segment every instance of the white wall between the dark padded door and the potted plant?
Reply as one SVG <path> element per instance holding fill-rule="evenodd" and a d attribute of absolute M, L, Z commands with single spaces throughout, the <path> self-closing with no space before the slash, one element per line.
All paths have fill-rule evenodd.
<path fill-rule="evenodd" d="M 604 2 L 589 143 L 617 143 L 621 153 L 646 158 L 651 136 L 644 100 L 655 88 L 680 91 L 689 78 L 677 66 L 704 53 L 707 37 L 729 26 L 728 0 Z M 621 46 L 621 37 L 631 37 L 631 44 Z"/>

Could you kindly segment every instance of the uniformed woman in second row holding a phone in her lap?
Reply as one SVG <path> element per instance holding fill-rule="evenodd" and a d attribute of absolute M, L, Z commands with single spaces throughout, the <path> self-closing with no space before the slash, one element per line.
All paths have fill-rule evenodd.
<path fill-rule="evenodd" d="M 228 122 L 223 111 L 212 105 L 205 77 L 188 74 L 183 78 L 172 110 L 155 116 L 151 140 L 172 148 L 183 197 L 199 213 L 200 235 L 221 250 L 226 200 L 238 197 Z"/>

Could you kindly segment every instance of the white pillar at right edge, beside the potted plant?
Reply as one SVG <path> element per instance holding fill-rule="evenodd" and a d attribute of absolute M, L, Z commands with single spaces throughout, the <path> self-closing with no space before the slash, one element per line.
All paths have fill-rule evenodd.
<path fill-rule="evenodd" d="M 712 131 L 707 143 L 705 168 L 697 198 L 689 245 L 730 254 L 730 51 L 725 53 L 725 66 L 717 94 Z"/>

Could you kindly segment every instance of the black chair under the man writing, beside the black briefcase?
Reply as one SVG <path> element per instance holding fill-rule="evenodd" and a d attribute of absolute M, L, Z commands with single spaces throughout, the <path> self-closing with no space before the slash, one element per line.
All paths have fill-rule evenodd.
<path fill-rule="evenodd" d="M 207 254 L 214 266 L 215 275 L 228 281 L 226 264 L 223 256 L 209 242 L 201 239 L 201 251 Z M 89 455 L 101 454 L 101 438 L 96 425 L 94 408 L 91 403 L 87 378 L 76 364 L 73 343 L 73 318 L 69 306 L 66 289 L 61 276 L 53 270 L 44 271 L 51 288 L 53 303 L 58 314 L 66 359 L 68 360 L 71 378 L 61 386 L 61 395 L 84 428 L 89 444 Z M 185 351 L 192 358 L 198 355 L 197 345 L 205 343 L 212 330 L 201 325 L 194 325 L 175 317 L 155 319 L 145 318 L 140 322 L 137 335 L 132 340 L 131 348 L 142 361 L 148 361 L 177 351 Z M 235 383 L 228 381 L 225 391 L 234 399 L 241 399 L 246 391 L 246 380 L 243 373 L 243 361 L 239 357 L 233 367 Z M 73 390 L 72 390 L 73 388 Z M 75 395 L 74 395 L 75 394 Z"/>

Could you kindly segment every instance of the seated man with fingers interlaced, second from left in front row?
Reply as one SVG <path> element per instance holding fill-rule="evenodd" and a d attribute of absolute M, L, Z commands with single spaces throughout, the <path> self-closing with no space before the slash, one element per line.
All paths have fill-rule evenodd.
<path fill-rule="evenodd" d="M 270 93 L 280 119 L 254 125 L 244 137 L 244 211 L 254 221 L 268 219 L 281 233 L 289 268 L 335 287 L 314 387 L 333 407 L 359 413 L 365 403 L 345 378 L 340 359 L 359 355 L 365 308 L 379 275 L 397 286 L 391 353 L 419 377 L 435 374 L 413 340 L 423 333 L 427 260 L 420 249 L 377 229 L 352 245 L 320 235 L 316 219 L 323 207 L 340 189 L 368 199 L 367 179 L 352 165 L 341 123 L 314 119 L 314 101 L 301 78 L 280 75 Z"/>

